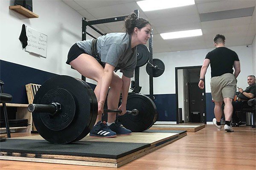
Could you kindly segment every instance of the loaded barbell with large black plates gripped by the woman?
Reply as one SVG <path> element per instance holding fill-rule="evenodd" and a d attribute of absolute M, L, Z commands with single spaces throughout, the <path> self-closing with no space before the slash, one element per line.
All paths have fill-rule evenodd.
<path fill-rule="evenodd" d="M 142 94 L 128 95 L 126 109 L 126 114 L 118 116 L 119 121 L 133 132 L 147 130 L 157 119 L 154 102 Z M 98 115 L 98 102 L 86 82 L 60 75 L 41 85 L 28 110 L 44 139 L 67 144 L 83 139 L 90 132 Z M 104 109 L 104 112 L 122 111 Z"/>

